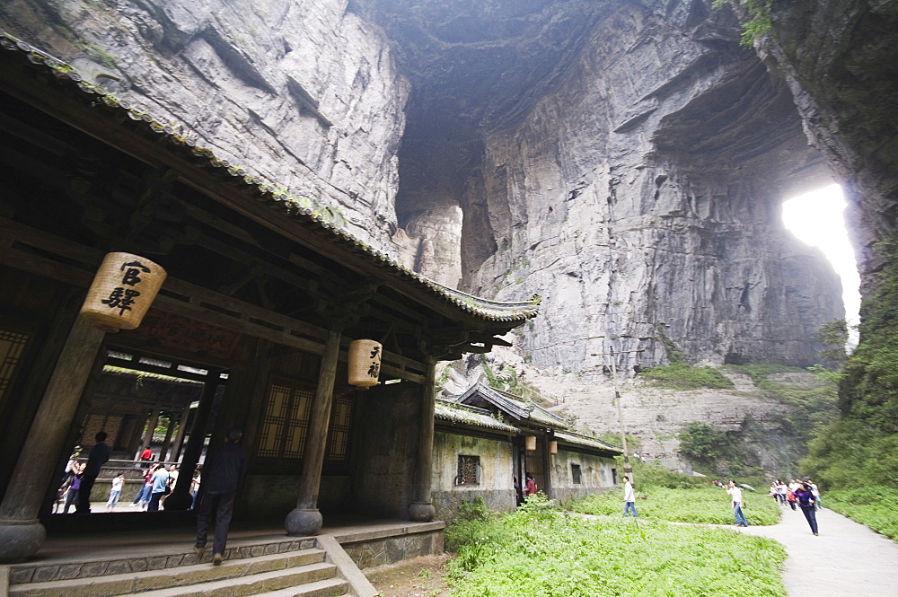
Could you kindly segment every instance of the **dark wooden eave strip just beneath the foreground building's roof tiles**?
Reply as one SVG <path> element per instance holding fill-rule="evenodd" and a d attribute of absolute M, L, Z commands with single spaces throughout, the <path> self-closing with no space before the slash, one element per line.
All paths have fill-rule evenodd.
<path fill-rule="evenodd" d="M 2 55 L 16 53 L 22 54 L 15 51 L 0 52 Z M 32 56 L 33 54 L 32 52 Z M 30 65 L 21 56 L 18 57 L 17 64 L 13 58 L 0 57 L 5 66 L 17 67 L 16 70 L 19 71 L 15 75 L 20 76 L 0 76 L 0 82 L 13 95 L 101 139 L 122 153 L 156 168 L 180 172 L 180 180 L 184 184 L 198 189 L 207 197 L 229 206 L 269 230 L 291 238 L 319 254 L 332 255 L 341 265 L 354 269 L 364 277 L 384 279 L 386 275 L 387 278 L 392 278 L 389 284 L 397 292 L 409 296 L 414 303 L 427 305 L 462 327 L 490 329 L 494 334 L 501 335 L 535 315 L 534 303 L 519 303 L 510 308 L 504 305 L 500 309 L 502 314 L 484 316 L 478 312 L 481 307 L 477 303 L 489 302 L 457 291 L 446 292 L 440 285 L 423 281 L 348 234 L 330 224 L 322 223 L 314 215 L 298 219 L 295 215 L 287 215 L 295 214 L 297 207 L 269 191 L 266 191 L 268 195 L 260 195 L 259 187 L 268 187 L 264 184 L 257 187 L 244 183 L 244 179 L 252 180 L 252 177 L 247 176 L 242 169 L 228 167 L 226 162 L 216 160 L 208 150 L 195 150 L 192 145 L 186 145 L 185 140 L 173 135 L 168 127 L 155 123 L 144 113 L 127 110 L 124 101 L 119 101 L 110 94 L 103 95 L 100 88 L 80 82 L 80 77 L 75 79 L 82 86 L 79 90 L 73 81 L 67 80 L 67 77 L 74 77 L 76 74 L 55 70 L 48 66 L 50 61 L 46 57 L 33 57 L 36 61 L 46 62 L 47 66 Z M 66 101 L 53 101 L 58 94 L 65 94 Z M 75 96 L 76 100 L 72 101 L 69 96 Z M 110 126 L 112 123 L 118 123 L 118 126 Z M 216 167 L 210 167 L 210 162 Z M 272 206 L 280 206 L 281 209 L 276 210 Z M 311 214 L 309 210 L 304 213 Z"/>

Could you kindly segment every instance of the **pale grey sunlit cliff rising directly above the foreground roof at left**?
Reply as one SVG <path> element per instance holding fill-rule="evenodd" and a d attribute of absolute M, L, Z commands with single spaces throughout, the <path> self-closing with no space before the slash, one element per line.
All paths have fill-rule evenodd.
<path fill-rule="evenodd" d="M 346 6 L 11 0 L 0 27 L 385 244 L 408 84 Z"/>

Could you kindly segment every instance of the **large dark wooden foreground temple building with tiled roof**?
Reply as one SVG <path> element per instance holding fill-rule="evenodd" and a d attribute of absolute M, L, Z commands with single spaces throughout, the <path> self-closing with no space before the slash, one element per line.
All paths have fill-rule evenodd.
<path fill-rule="evenodd" d="M 56 58 L 2 46 L 0 561 L 40 549 L 75 445 L 106 431 L 133 460 L 160 417 L 154 457 L 182 471 L 242 428 L 239 516 L 299 536 L 330 513 L 433 520 L 435 365 L 508 346 L 538 297 L 438 285 Z M 119 251 L 167 277 L 139 327 L 112 333 L 79 312 Z M 348 382 L 358 339 L 383 347 L 365 391 Z M 189 485 L 160 515 L 189 507 Z"/>

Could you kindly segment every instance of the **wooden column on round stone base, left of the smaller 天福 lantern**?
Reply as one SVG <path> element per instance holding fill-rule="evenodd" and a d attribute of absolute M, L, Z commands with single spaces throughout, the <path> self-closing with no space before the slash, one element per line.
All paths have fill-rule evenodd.
<path fill-rule="evenodd" d="M 314 535 L 321 531 L 323 519 L 318 511 L 318 491 L 321 487 L 321 467 L 324 464 L 324 448 L 328 440 L 330 404 L 333 401 L 334 382 L 337 379 L 337 359 L 341 331 L 331 329 L 321 357 L 318 387 L 312 404 L 312 415 L 305 439 L 303 476 L 299 481 L 299 498 L 296 507 L 286 515 L 284 528 L 288 535 Z"/>

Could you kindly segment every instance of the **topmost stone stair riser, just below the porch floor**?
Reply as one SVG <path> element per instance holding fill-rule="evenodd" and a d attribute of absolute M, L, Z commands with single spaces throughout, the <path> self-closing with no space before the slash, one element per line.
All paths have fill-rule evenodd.
<path fill-rule="evenodd" d="M 244 544 L 235 541 L 233 547 L 225 549 L 225 560 L 234 561 L 242 558 L 293 553 L 301 549 L 311 549 L 314 545 L 313 538 Z M 184 551 L 176 553 L 151 552 L 127 557 L 93 557 L 54 564 L 15 564 L 10 566 L 9 582 L 10 584 L 25 584 L 93 578 L 102 575 L 123 575 L 148 570 L 195 566 L 211 561 L 211 546 L 207 546 L 206 553 L 202 557 L 198 557 L 193 549 L 186 548 Z"/>

